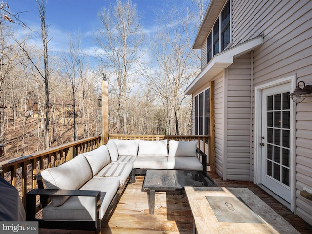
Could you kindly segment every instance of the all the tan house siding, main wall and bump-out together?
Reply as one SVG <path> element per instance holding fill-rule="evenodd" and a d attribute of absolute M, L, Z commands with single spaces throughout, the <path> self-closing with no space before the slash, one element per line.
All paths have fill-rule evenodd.
<path fill-rule="evenodd" d="M 231 0 L 231 9 L 230 47 L 259 35 L 263 44 L 213 78 L 216 172 L 255 182 L 254 87 L 289 77 L 312 84 L 312 0 Z M 204 69 L 206 41 L 201 52 Z M 312 97 L 295 113 L 294 213 L 312 225 L 312 201 L 300 195 L 312 190 Z"/>

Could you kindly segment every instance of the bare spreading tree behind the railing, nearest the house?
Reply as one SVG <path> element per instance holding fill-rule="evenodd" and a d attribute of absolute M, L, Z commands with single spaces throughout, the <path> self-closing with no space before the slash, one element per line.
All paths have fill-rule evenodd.
<path fill-rule="evenodd" d="M 191 78 L 200 71 L 199 57 L 190 48 L 191 35 L 194 36 L 196 32 L 195 13 L 198 12 L 193 9 L 191 17 L 191 9 L 185 11 L 181 7 L 182 5 L 165 5 L 159 13 L 159 31 L 155 33 L 150 46 L 156 64 L 154 68 L 145 70 L 147 82 L 158 95 L 165 110 L 168 129 L 166 133 L 177 135 L 180 134 L 179 111 L 182 107 L 190 108 L 185 102 L 184 90 Z M 190 116 L 184 118 L 187 119 L 191 121 Z"/>

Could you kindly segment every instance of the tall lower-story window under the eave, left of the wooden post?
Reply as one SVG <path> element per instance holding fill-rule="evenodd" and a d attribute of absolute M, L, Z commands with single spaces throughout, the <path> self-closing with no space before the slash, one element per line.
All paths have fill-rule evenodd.
<path fill-rule="evenodd" d="M 195 96 L 195 135 L 210 134 L 209 89 Z"/>

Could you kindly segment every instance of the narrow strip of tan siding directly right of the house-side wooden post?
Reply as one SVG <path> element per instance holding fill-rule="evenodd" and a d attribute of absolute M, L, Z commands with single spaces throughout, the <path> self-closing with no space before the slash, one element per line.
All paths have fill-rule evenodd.
<path fill-rule="evenodd" d="M 224 93 L 223 75 L 215 79 L 215 170 L 223 177 Z"/>

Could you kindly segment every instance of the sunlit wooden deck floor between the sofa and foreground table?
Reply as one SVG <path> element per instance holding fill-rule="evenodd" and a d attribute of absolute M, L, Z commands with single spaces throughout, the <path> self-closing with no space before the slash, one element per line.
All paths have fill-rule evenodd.
<path fill-rule="evenodd" d="M 142 191 L 143 176 L 129 184 L 102 229 L 107 234 L 191 234 L 193 219 L 184 191 L 156 192 L 155 213 L 149 214 L 147 193 Z"/>

